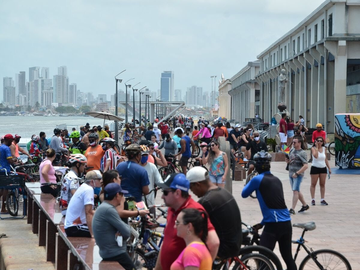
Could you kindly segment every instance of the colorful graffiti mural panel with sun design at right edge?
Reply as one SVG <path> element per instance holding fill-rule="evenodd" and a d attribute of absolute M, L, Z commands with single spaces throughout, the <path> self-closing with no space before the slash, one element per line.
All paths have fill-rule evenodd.
<path fill-rule="evenodd" d="M 335 115 L 335 165 L 360 167 L 360 113 Z"/>

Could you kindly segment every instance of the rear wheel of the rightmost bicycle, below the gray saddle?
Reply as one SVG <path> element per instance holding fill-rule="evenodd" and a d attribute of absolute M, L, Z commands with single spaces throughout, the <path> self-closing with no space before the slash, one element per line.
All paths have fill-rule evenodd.
<path fill-rule="evenodd" d="M 319 249 L 312 252 L 316 261 L 324 267 L 324 269 L 347 269 L 351 270 L 349 261 L 339 252 L 331 249 Z M 319 269 L 315 261 L 310 255 L 307 255 L 301 262 L 299 270 L 302 269 Z"/>

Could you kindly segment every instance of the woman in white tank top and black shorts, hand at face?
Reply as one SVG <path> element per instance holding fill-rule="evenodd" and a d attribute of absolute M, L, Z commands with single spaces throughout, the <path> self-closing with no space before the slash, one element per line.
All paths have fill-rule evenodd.
<path fill-rule="evenodd" d="M 312 164 L 310 169 L 311 176 L 311 186 L 310 186 L 310 194 L 311 194 L 311 205 L 315 205 L 315 187 L 318 183 L 318 179 L 320 179 L 320 204 L 328 205 L 325 202 L 325 181 L 327 175 L 327 168 L 329 169 L 329 174 L 331 174 L 331 169 L 329 166 L 329 162 L 326 154 L 325 142 L 323 137 L 318 137 L 314 141 L 314 145 L 311 147 L 311 156 L 312 156 Z"/>

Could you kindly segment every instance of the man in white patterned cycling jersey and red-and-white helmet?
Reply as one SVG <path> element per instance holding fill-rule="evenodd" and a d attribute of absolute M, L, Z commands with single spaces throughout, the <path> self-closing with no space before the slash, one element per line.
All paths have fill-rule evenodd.
<path fill-rule="evenodd" d="M 64 176 L 60 193 L 60 210 L 63 216 L 69 205 L 72 195 L 79 188 L 79 177 L 84 172 L 86 166 L 86 157 L 82 154 L 74 154 L 69 156 L 71 170 Z"/>

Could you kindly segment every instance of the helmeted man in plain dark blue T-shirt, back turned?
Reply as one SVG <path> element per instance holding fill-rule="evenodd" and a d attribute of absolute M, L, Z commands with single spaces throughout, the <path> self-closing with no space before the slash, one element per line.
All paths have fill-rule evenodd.
<path fill-rule="evenodd" d="M 121 176 L 121 188 L 129 191 L 136 202 L 141 202 L 141 196 L 149 194 L 149 177 L 146 170 L 139 165 L 141 161 L 141 147 L 145 145 L 130 144 L 125 148 L 128 161 L 120 162 L 116 167 Z"/>

